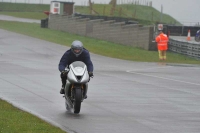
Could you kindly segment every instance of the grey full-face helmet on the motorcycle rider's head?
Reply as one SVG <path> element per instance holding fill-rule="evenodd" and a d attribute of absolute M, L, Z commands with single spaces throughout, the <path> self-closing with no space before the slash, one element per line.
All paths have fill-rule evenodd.
<path fill-rule="evenodd" d="M 83 52 L 83 43 L 78 40 L 73 41 L 71 50 L 76 55 L 76 57 L 78 57 Z"/>

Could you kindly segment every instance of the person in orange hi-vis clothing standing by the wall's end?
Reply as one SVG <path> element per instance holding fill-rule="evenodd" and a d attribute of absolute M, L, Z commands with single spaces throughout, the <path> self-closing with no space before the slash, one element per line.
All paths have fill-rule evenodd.
<path fill-rule="evenodd" d="M 163 25 L 158 25 L 159 35 L 156 37 L 155 41 L 157 42 L 159 60 L 166 60 L 166 51 L 168 49 L 168 37 L 162 32 Z"/>

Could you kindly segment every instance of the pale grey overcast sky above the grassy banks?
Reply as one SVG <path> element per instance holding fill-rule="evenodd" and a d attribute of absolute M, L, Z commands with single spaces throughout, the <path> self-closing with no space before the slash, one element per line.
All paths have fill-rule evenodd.
<path fill-rule="evenodd" d="M 29 3 L 50 3 L 52 0 L 0 0 L 8 2 L 29 2 Z M 88 0 L 54 0 L 75 2 L 75 5 L 83 5 Z M 110 0 L 91 0 L 94 3 L 109 3 Z M 131 2 L 136 0 L 117 0 L 119 3 Z M 138 0 L 137 0 L 138 1 Z M 200 23 L 200 0 L 139 0 L 140 2 L 152 1 L 153 7 L 161 10 L 163 5 L 163 12 L 171 15 L 181 23 Z"/>

